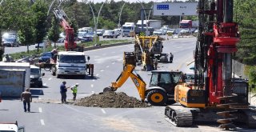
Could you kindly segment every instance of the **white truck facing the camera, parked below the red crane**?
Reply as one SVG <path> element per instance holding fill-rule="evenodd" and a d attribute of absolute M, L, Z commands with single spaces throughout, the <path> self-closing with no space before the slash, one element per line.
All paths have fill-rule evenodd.
<path fill-rule="evenodd" d="M 90 57 L 85 55 L 84 52 L 58 52 L 57 62 L 53 67 L 52 74 L 56 75 L 57 78 L 60 78 L 62 75 L 80 75 L 85 77 L 86 72 L 93 76 L 94 65 L 86 64 L 86 62 L 89 62 L 89 60 Z"/>

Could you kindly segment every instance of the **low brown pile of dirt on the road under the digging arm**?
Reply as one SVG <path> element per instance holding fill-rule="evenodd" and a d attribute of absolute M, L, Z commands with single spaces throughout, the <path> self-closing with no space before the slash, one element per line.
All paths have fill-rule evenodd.
<path fill-rule="evenodd" d="M 114 108 L 148 107 L 146 102 L 130 97 L 123 92 L 104 92 L 103 94 L 92 94 L 89 97 L 81 98 L 74 105 Z"/>

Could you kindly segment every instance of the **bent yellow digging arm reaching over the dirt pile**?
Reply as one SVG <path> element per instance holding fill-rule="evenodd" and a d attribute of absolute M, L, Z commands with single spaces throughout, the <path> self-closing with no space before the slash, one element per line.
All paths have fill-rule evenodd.
<path fill-rule="evenodd" d="M 138 90 L 138 94 L 140 98 L 142 98 L 142 102 L 144 102 L 145 99 L 145 91 L 146 91 L 146 83 L 142 80 L 142 78 L 139 76 L 139 74 L 134 74 L 135 66 L 133 65 L 126 65 L 122 73 L 119 75 L 117 80 L 115 82 L 112 82 L 112 85 L 109 87 L 106 87 L 103 92 L 106 91 L 115 91 L 118 90 L 119 87 L 121 87 L 126 80 L 130 77 L 131 80 L 134 82 L 134 85 L 136 86 Z"/>

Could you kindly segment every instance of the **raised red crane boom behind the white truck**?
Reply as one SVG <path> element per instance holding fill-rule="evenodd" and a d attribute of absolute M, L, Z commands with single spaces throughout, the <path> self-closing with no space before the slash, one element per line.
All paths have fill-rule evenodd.
<path fill-rule="evenodd" d="M 77 48 L 77 43 L 74 41 L 74 29 L 69 25 L 65 12 L 55 8 L 54 16 L 65 30 L 66 38 L 64 44 L 66 51 L 75 50 Z"/>

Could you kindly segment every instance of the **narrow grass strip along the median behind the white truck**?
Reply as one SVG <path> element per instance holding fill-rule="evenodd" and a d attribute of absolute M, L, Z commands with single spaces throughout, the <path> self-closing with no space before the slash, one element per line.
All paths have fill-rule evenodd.
<path fill-rule="evenodd" d="M 110 44 L 115 44 L 115 43 L 121 43 L 121 42 L 130 42 L 130 40 L 127 39 L 123 39 L 123 40 L 103 40 L 98 42 L 98 44 L 101 45 L 110 45 Z M 90 47 L 90 46 L 94 46 L 94 42 L 81 42 L 78 44 L 78 46 L 84 46 L 84 47 Z M 58 51 L 64 51 L 65 48 L 64 46 L 57 46 Z M 47 47 L 46 48 L 46 52 L 53 50 L 54 47 Z M 18 52 L 18 53 L 14 53 L 14 54 L 10 54 L 10 56 L 12 58 L 14 58 L 14 60 L 17 60 L 18 58 L 22 58 L 25 56 L 40 56 L 40 54 L 42 54 L 43 50 L 42 48 L 39 48 L 39 50 L 29 50 L 26 52 Z"/>

